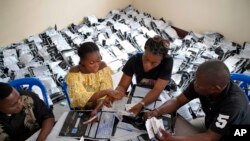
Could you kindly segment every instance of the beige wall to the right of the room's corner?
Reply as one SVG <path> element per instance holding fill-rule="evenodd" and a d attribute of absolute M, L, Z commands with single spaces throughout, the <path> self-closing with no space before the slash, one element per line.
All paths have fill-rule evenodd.
<path fill-rule="evenodd" d="M 250 0 L 134 0 L 132 5 L 187 31 L 216 31 L 236 43 L 250 42 Z"/>

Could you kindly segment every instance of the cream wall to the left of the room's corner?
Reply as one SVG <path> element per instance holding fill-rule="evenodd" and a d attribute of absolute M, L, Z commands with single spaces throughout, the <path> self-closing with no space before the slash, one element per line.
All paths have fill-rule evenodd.
<path fill-rule="evenodd" d="M 132 0 L 1 0 L 0 47 L 45 31 L 57 24 L 62 29 L 79 24 L 84 16 L 105 17 Z"/>

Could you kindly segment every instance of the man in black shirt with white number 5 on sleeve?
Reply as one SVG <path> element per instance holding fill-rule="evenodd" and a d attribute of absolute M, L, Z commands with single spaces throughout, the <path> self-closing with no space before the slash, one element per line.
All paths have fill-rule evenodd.
<path fill-rule="evenodd" d="M 219 60 L 202 63 L 195 79 L 182 94 L 145 113 L 147 118 L 176 111 L 194 98 L 199 98 L 205 112 L 206 131 L 190 136 L 172 136 L 161 129 L 164 141 L 224 140 L 232 125 L 250 125 L 250 106 L 243 90 L 232 80 L 227 66 Z"/>

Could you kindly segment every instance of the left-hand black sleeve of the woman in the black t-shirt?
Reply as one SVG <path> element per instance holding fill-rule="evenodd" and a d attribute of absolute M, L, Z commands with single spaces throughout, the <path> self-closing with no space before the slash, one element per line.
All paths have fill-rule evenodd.
<path fill-rule="evenodd" d="M 135 62 L 136 62 L 136 56 L 134 55 L 126 62 L 126 64 L 122 69 L 122 72 L 132 77 L 135 73 Z"/>

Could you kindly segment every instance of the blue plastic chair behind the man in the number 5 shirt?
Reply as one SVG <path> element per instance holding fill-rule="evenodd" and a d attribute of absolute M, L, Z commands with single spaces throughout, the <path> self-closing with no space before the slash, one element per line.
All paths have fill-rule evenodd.
<path fill-rule="evenodd" d="M 245 94 L 247 95 L 248 100 L 250 101 L 250 93 L 249 93 L 250 75 L 232 73 L 231 79 L 239 83 L 239 86 L 245 91 Z"/>

